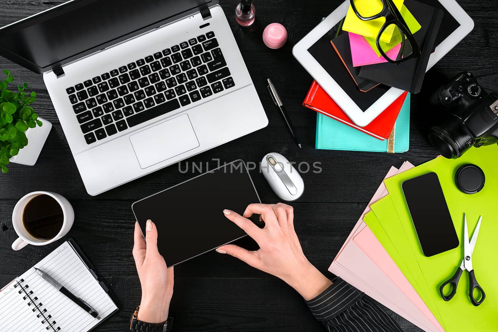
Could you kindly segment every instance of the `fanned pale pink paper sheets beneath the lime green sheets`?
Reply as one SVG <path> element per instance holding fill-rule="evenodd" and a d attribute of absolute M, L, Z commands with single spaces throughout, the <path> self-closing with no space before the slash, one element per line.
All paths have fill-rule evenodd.
<path fill-rule="evenodd" d="M 411 165 L 410 163 L 405 163 L 400 168 L 399 172 L 407 170 L 411 167 L 413 167 L 413 165 Z M 397 169 L 391 168 L 389 170 L 389 173 L 387 173 L 386 178 L 391 177 L 396 173 L 398 173 Z M 417 325 L 421 329 L 431 332 L 443 332 L 444 330 L 441 325 L 437 322 L 432 313 L 430 313 L 427 306 L 422 302 L 418 294 L 416 294 L 416 292 L 413 290 L 413 287 L 409 285 L 408 281 L 402 275 L 402 273 L 399 271 L 404 282 L 408 283 L 411 292 L 406 289 L 401 289 L 401 287 L 406 287 L 406 284 L 404 284 L 402 281 L 399 283 L 399 285 L 394 283 L 353 241 L 355 236 L 362 232 L 365 227 L 367 227 L 367 225 L 363 221 L 363 218 L 368 212 L 371 211 L 370 205 L 385 195 L 387 195 L 387 191 L 384 184 L 382 183 L 375 192 L 375 195 L 373 196 L 373 199 L 365 210 L 364 214 L 361 216 L 353 231 L 348 236 L 345 244 L 332 262 L 331 266 L 329 267 L 329 271 L 336 274 L 337 276 L 340 276 L 348 283 L 365 292 L 367 295 L 369 295 L 379 303 L 388 307 L 389 309 L 404 317 L 411 323 Z M 391 263 L 394 264 L 392 260 Z M 411 297 L 407 294 L 410 294 Z M 414 295 L 416 295 L 416 297 L 414 297 Z"/>

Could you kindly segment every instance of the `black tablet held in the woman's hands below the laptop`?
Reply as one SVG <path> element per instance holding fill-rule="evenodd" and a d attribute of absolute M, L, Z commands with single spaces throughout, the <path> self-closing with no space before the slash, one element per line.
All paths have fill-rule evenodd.
<path fill-rule="evenodd" d="M 143 234 L 148 219 L 157 226 L 157 246 L 170 267 L 246 236 L 223 210 L 242 215 L 252 203 L 261 201 L 245 163 L 237 160 L 135 202 L 131 208 Z M 258 223 L 259 217 L 253 222 Z"/>

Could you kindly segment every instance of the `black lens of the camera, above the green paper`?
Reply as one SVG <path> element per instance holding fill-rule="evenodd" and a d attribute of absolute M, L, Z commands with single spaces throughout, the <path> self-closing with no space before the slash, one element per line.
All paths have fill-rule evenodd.
<path fill-rule="evenodd" d="M 433 126 L 429 131 L 429 141 L 443 157 L 456 159 L 472 146 L 467 143 L 474 138 L 463 130 L 458 120 L 453 119 L 444 125 Z"/>

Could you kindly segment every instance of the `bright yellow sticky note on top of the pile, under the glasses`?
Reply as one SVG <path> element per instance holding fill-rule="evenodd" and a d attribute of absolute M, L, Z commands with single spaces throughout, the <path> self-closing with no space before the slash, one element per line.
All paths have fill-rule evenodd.
<path fill-rule="evenodd" d="M 393 0 L 394 4 L 401 10 L 404 0 Z M 377 0 L 355 0 L 357 8 L 370 13 L 380 12 L 382 10 L 382 2 Z M 344 20 L 343 30 L 353 32 L 365 37 L 377 38 L 378 32 L 385 23 L 384 17 L 379 17 L 369 21 L 364 21 L 355 14 L 353 7 L 349 6 L 348 14 Z M 380 40 L 388 43 L 394 33 L 394 27 L 390 26 L 382 33 Z M 398 42 L 399 43 L 399 42 Z"/>

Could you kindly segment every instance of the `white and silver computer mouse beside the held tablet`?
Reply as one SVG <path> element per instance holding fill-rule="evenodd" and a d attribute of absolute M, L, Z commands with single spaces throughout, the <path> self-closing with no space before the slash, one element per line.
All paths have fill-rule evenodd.
<path fill-rule="evenodd" d="M 292 202 L 303 195 L 303 178 L 280 153 L 271 152 L 265 155 L 261 160 L 261 172 L 271 189 L 282 200 Z"/>

